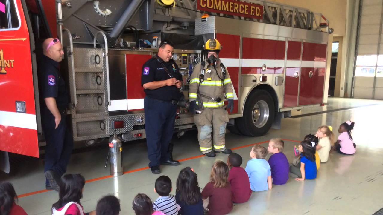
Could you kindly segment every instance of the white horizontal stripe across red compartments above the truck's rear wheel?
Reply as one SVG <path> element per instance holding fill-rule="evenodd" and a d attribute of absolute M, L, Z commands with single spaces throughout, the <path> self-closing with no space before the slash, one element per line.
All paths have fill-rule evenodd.
<path fill-rule="evenodd" d="M 265 60 L 265 59 L 237 59 L 237 58 L 221 58 L 222 63 L 226 67 L 284 67 L 285 60 Z M 287 60 L 286 67 L 300 67 L 300 60 Z M 315 68 L 326 68 L 326 62 L 324 61 L 309 61 L 302 60 L 302 67 L 315 67 Z"/>

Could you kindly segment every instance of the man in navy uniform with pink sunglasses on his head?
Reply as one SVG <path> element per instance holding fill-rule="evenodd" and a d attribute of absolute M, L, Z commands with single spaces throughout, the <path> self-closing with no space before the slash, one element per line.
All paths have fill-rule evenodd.
<path fill-rule="evenodd" d="M 59 71 L 64 55 L 59 39 L 46 39 L 43 54 L 39 59 L 38 75 L 41 122 L 46 140 L 44 172 L 46 188 L 58 191 L 73 149 L 73 136 L 65 121 L 69 94 Z"/>

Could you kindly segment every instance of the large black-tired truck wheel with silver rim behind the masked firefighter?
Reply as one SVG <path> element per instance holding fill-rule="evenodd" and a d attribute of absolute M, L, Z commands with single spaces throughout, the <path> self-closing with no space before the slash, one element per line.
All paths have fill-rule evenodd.
<path fill-rule="evenodd" d="M 257 108 L 255 107 L 256 104 Z M 259 113 L 258 120 L 253 117 L 255 111 Z M 271 128 L 274 116 L 275 106 L 270 93 L 265 90 L 256 90 L 247 98 L 243 116 L 236 119 L 236 125 L 243 135 L 250 137 L 262 136 Z"/>

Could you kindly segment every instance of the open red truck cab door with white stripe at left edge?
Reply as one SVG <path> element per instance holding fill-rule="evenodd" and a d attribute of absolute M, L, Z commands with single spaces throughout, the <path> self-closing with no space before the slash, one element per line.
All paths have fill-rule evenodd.
<path fill-rule="evenodd" d="M 12 28 L 0 29 L 0 150 L 39 157 L 28 26 L 21 1 L 11 2 Z"/>

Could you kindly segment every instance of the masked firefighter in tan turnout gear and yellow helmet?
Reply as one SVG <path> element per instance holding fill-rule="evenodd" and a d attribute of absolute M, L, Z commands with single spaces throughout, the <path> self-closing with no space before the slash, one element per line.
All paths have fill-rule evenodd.
<path fill-rule="evenodd" d="M 229 122 L 226 109 L 233 111 L 234 96 L 229 73 L 218 58 L 221 44 L 216 39 L 209 39 L 204 49 L 203 60 L 195 66 L 190 77 L 190 111 L 195 114 L 201 152 L 208 157 L 215 157 L 215 152 L 231 153 L 225 147 L 226 123 Z M 225 98 L 228 100 L 226 108 Z"/>

